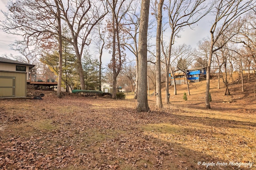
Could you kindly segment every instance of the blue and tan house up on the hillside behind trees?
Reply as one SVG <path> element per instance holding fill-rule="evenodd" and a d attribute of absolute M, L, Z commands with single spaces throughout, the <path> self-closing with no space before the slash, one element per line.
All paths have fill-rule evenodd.
<path fill-rule="evenodd" d="M 172 76 L 171 73 L 169 73 L 169 76 L 171 77 L 171 84 L 172 82 Z M 186 76 L 188 77 L 188 82 L 199 82 L 202 80 L 206 80 L 206 68 L 192 68 L 186 70 L 186 75 L 181 70 L 175 70 L 174 71 L 174 78 L 176 84 L 185 84 L 186 83 Z"/>

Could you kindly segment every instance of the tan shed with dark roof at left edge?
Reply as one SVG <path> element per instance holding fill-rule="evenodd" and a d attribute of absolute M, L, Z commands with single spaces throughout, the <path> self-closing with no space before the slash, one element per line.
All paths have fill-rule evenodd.
<path fill-rule="evenodd" d="M 0 57 L 0 98 L 26 97 L 29 70 L 34 66 Z"/>

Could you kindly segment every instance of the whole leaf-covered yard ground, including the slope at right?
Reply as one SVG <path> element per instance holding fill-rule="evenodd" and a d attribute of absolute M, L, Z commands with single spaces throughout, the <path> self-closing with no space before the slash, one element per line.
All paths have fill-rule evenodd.
<path fill-rule="evenodd" d="M 136 113 L 134 99 L 54 92 L 0 100 L 0 169 L 256 169 L 256 102 L 246 87 L 241 93 L 234 83 L 224 96 L 213 85 L 210 110 L 204 82 L 191 85 L 188 101 L 186 86 L 176 96 L 170 89 L 161 110 L 149 97 L 150 113 Z"/>

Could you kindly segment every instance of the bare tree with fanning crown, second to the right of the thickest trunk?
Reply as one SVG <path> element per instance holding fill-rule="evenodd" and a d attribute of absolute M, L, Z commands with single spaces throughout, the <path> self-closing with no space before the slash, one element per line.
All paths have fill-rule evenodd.
<path fill-rule="evenodd" d="M 206 0 L 169 0 L 168 4 L 164 4 L 164 9 L 168 11 L 169 26 L 171 29 L 168 53 L 165 59 L 166 68 L 166 98 L 165 102 L 170 103 L 167 94 L 169 94 L 169 71 L 170 71 L 170 58 L 172 53 L 172 45 L 174 44 L 175 37 L 178 37 L 178 33 L 182 28 L 190 26 L 199 21 L 205 16 L 211 8 L 207 5 Z"/>

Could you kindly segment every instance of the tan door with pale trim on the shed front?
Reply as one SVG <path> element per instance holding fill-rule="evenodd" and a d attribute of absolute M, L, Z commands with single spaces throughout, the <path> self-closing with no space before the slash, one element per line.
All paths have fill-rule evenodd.
<path fill-rule="evenodd" d="M 15 77 L 0 76 L 0 97 L 13 97 L 14 92 Z"/>

